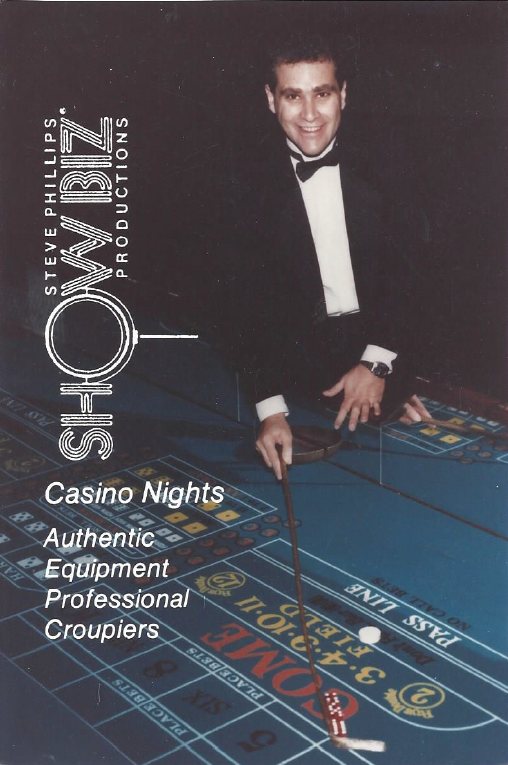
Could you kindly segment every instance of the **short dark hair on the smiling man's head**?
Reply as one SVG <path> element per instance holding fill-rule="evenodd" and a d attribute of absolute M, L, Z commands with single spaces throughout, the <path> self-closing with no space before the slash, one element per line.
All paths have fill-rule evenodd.
<path fill-rule="evenodd" d="M 266 56 L 265 83 L 274 91 L 277 86 L 275 69 L 281 64 L 298 64 L 300 61 L 331 61 L 339 85 L 345 80 L 344 54 L 320 32 L 291 32 L 274 40 Z"/>

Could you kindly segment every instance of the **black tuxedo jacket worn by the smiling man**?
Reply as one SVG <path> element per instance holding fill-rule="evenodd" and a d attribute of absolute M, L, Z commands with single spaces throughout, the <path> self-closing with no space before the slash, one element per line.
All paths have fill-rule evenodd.
<path fill-rule="evenodd" d="M 340 177 L 360 306 L 357 328 L 365 345 L 407 355 L 408 260 L 384 222 L 381 195 L 342 159 Z M 229 308 L 224 317 L 234 328 L 237 366 L 260 401 L 284 394 L 292 350 L 325 312 L 316 249 L 283 134 L 263 140 L 248 157 L 244 153 L 230 197 L 229 294 L 221 302 Z M 336 327 L 341 331 L 340 320 Z"/>

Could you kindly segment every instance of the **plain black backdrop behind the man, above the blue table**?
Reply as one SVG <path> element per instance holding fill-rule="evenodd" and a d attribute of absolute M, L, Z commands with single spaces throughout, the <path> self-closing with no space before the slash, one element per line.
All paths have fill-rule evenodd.
<path fill-rule="evenodd" d="M 34 273 L 40 289 L 43 120 L 65 106 L 90 126 L 129 117 L 130 275 L 146 286 L 139 312 L 163 315 L 161 290 L 188 281 L 185 249 L 206 218 L 195 189 L 213 187 L 231 145 L 270 128 L 260 54 L 294 25 L 348 48 L 341 136 L 400 210 L 421 273 L 422 356 L 506 399 L 505 3 L 2 3 L 4 314 L 27 323 Z"/>

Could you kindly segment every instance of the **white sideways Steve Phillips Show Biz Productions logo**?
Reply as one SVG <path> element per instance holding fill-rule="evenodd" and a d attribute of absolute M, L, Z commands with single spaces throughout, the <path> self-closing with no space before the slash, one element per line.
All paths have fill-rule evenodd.
<path fill-rule="evenodd" d="M 113 414 L 94 411 L 96 399 L 112 395 L 113 385 L 109 381 L 130 361 L 138 341 L 197 339 L 198 336 L 140 335 L 123 302 L 112 292 L 97 288 L 104 281 L 110 289 L 114 289 L 111 285 L 115 280 L 136 283 L 129 276 L 129 220 L 126 216 L 130 204 L 125 201 L 129 189 L 123 185 L 128 182 L 128 175 L 123 173 L 129 169 L 129 119 L 101 117 L 97 131 L 91 129 L 87 120 L 83 125 L 63 116 L 65 114 L 67 108 L 62 106 L 58 118 L 44 120 L 44 165 L 45 170 L 51 170 L 44 175 L 44 236 L 50 240 L 46 242 L 46 252 L 60 252 L 59 263 L 56 257 L 46 258 L 45 265 L 51 265 L 55 272 L 45 270 L 44 281 L 55 278 L 62 282 L 59 286 L 58 282 L 48 283 L 44 289 L 46 296 L 55 297 L 60 293 L 62 298 L 47 319 L 45 344 L 55 366 L 70 377 L 70 381 L 60 382 L 60 394 L 77 396 L 79 401 L 79 411 L 64 412 L 60 416 L 63 428 L 58 440 L 60 452 L 66 459 L 77 461 L 95 451 L 105 460 L 113 451 L 113 437 L 105 429 L 113 427 Z M 104 205 L 99 217 L 105 228 L 92 225 L 90 205 L 92 209 Z M 101 250 L 103 247 L 105 255 Z M 64 282 L 69 266 L 76 271 Z M 63 335 L 63 330 L 55 329 L 60 323 L 65 326 L 72 320 L 70 317 L 76 316 L 76 306 L 91 312 L 90 316 L 97 308 L 103 315 L 106 312 L 107 316 L 109 312 L 119 330 L 118 347 L 101 366 L 90 369 L 75 366 L 74 361 L 66 361 L 58 350 L 57 338 Z M 82 331 L 90 332 L 88 323 Z M 88 429 L 82 432 L 83 428 Z"/>

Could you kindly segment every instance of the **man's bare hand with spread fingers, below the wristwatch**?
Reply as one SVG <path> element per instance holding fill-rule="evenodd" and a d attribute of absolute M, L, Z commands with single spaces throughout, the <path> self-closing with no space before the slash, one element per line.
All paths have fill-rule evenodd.
<path fill-rule="evenodd" d="M 358 419 L 360 422 L 367 422 L 371 409 L 376 416 L 381 414 L 385 380 L 373 375 L 363 364 L 357 364 L 346 372 L 333 388 L 323 391 L 323 395 L 336 396 L 341 390 L 344 391 L 344 401 L 334 422 L 335 429 L 340 428 L 347 414 L 349 430 L 356 430 Z"/>

